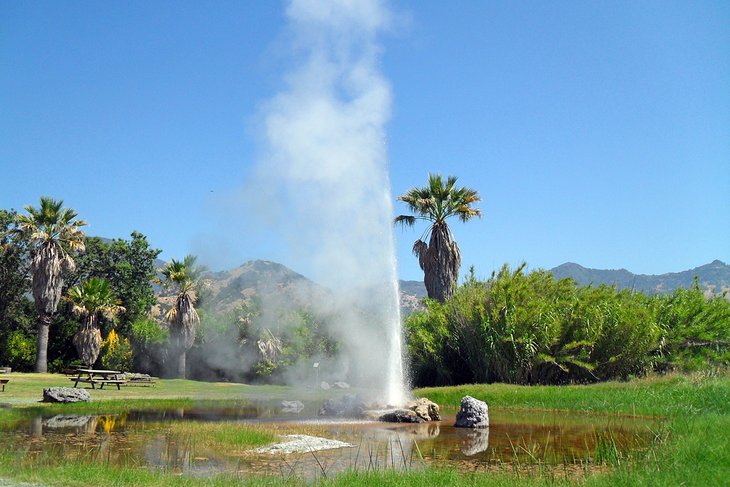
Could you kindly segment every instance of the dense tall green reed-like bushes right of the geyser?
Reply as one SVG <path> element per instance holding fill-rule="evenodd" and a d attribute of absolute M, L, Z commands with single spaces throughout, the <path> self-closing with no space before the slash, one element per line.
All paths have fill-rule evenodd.
<path fill-rule="evenodd" d="M 503 266 L 472 275 L 443 304 L 405 322 L 416 386 L 563 384 L 649 370 L 730 365 L 730 302 L 695 286 L 669 296 L 579 287 Z"/>

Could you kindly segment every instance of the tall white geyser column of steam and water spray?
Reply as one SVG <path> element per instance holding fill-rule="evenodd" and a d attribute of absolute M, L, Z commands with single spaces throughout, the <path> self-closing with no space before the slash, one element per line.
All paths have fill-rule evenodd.
<path fill-rule="evenodd" d="M 389 13 L 377 0 L 288 4 L 294 68 L 263 107 L 255 193 L 278 213 L 292 260 L 327 286 L 346 360 L 333 371 L 407 399 L 401 351 L 385 124 L 390 87 L 378 68 Z M 273 208 L 272 211 L 272 206 Z"/>

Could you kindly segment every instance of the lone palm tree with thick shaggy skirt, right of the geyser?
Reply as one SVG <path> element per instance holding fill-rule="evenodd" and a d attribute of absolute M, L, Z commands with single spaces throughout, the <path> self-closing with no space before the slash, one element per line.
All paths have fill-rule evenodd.
<path fill-rule="evenodd" d="M 479 194 L 474 189 L 457 188 L 456 180 L 449 176 L 444 181 L 440 174 L 429 174 L 427 186 L 412 188 L 398 197 L 415 215 L 400 215 L 395 219 L 405 226 L 413 226 L 417 220 L 430 222 L 413 244 L 413 254 L 423 270 L 428 297 L 442 303 L 453 296 L 461 266 L 459 246 L 451 236 L 446 219 L 456 216 L 467 222 L 481 216 L 480 210 L 472 206 L 481 200 Z M 424 240 L 429 234 L 426 245 Z"/>

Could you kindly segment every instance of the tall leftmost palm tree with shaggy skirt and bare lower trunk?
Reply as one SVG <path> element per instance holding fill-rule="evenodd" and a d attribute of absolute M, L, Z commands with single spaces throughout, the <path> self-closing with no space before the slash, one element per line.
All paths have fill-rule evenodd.
<path fill-rule="evenodd" d="M 27 215 L 18 215 L 15 231 L 31 249 L 30 273 L 33 300 L 38 313 L 36 372 L 48 370 L 48 329 L 63 290 L 64 272 L 74 269 L 72 252 L 84 250 L 86 225 L 72 208 L 63 208 L 62 200 L 41 197 L 39 208 L 25 207 Z"/>

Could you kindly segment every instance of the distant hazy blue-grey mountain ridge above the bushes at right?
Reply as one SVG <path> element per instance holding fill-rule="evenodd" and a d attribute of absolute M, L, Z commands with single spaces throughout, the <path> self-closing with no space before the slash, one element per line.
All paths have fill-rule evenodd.
<path fill-rule="evenodd" d="M 690 288 L 697 277 L 706 294 L 721 294 L 730 290 L 730 265 L 715 260 L 709 264 L 682 272 L 666 274 L 634 274 L 626 269 L 590 269 L 573 262 L 559 265 L 550 272 L 556 279 L 572 278 L 580 285 L 614 285 L 618 289 L 635 289 L 646 294 L 671 293 L 678 288 Z"/>

